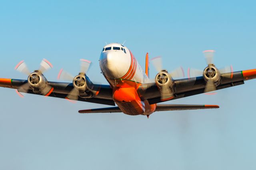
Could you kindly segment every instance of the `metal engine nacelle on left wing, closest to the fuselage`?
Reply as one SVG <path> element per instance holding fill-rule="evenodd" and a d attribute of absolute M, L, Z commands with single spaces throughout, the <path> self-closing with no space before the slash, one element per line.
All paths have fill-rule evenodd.
<path fill-rule="evenodd" d="M 73 86 L 78 91 L 78 96 L 80 96 L 81 98 L 92 97 L 92 82 L 85 75 L 84 72 L 80 72 L 77 76 L 75 76 L 75 78 L 73 79 Z"/>

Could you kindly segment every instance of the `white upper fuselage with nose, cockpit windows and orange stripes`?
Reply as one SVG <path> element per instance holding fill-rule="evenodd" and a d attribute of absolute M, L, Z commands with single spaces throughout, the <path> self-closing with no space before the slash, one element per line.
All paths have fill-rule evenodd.
<path fill-rule="evenodd" d="M 132 52 L 118 43 L 111 43 L 103 48 L 100 55 L 100 69 L 110 83 L 116 79 L 149 82 L 148 76 Z"/>

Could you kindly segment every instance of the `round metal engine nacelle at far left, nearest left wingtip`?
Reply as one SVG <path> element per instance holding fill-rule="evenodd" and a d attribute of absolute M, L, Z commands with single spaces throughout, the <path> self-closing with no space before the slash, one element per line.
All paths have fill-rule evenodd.
<path fill-rule="evenodd" d="M 33 88 L 34 93 L 41 93 L 47 86 L 47 80 L 40 70 L 34 70 L 28 76 L 28 84 Z"/>

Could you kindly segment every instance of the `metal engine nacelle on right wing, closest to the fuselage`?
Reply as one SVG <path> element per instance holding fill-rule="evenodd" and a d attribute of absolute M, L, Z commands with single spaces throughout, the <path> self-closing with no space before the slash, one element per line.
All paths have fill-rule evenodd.
<path fill-rule="evenodd" d="M 161 70 L 156 74 L 155 78 L 156 86 L 163 95 L 171 95 L 174 93 L 173 84 L 174 81 L 167 70 Z"/>

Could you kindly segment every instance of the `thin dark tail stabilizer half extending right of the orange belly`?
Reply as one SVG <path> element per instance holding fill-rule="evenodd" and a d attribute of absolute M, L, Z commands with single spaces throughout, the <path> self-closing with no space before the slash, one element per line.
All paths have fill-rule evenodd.
<path fill-rule="evenodd" d="M 218 105 L 158 104 L 156 105 L 156 111 L 217 109 L 219 107 Z"/>

